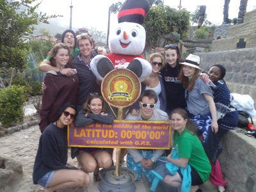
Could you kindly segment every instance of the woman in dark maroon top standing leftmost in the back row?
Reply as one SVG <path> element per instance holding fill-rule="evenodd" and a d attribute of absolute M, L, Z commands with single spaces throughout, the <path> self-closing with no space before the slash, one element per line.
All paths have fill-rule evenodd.
<path fill-rule="evenodd" d="M 38 125 L 41 132 L 47 125 L 56 120 L 57 111 L 61 104 L 71 102 L 76 105 L 79 85 L 76 74 L 70 77 L 61 74 L 62 68 L 74 68 L 70 62 L 70 52 L 67 45 L 62 43 L 54 45 L 48 55 L 51 65 L 60 68 L 60 72 L 49 71 L 44 78 L 47 89 L 44 91 L 39 111 Z"/>

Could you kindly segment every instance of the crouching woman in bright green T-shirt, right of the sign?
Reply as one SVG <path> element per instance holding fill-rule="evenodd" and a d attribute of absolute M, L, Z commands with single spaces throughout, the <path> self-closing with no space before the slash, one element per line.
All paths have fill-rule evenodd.
<path fill-rule="evenodd" d="M 185 179 L 182 168 L 191 166 L 191 192 L 199 189 L 200 184 L 203 184 L 209 179 L 211 173 L 211 164 L 204 147 L 196 136 L 197 127 L 188 118 L 185 109 L 173 109 L 171 113 L 170 124 L 172 125 L 171 132 L 171 148 L 174 147 L 180 159 L 172 159 L 172 154 L 167 157 L 167 160 L 179 167 L 175 175 L 166 175 L 164 182 L 170 186 L 180 188 Z"/>

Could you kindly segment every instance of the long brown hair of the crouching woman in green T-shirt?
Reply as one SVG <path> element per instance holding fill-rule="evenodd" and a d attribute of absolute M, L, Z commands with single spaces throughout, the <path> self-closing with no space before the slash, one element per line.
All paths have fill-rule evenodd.
<path fill-rule="evenodd" d="M 182 108 L 176 108 L 172 110 L 172 113 L 170 114 L 170 119 L 172 119 L 172 115 L 173 114 L 179 114 L 180 116 L 182 116 L 182 118 L 188 119 L 186 128 L 188 129 L 189 133 L 198 136 L 197 132 L 198 132 L 198 127 L 195 123 L 193 123 L 189 118 L 188 118 L 188 113 L 185 109 Z"/>

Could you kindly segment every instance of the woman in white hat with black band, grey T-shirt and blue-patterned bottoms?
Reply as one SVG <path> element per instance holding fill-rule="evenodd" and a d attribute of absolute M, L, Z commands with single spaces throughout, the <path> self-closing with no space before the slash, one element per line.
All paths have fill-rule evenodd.
<path fill-rule="evenodd" d="M 212 163 L 215 163 L 222 150 L 220 145 L 216 145 L 218 132 L 216 107 L 211 88 L 200 78 L 199 63 L 199 56 L 189 54 L 188 58 L 180 63 L 182 67 L 179 80 L 186 88 L 185 98 L 189 117 L 198 126 L 200 134 L 204 136 L 205 152 Z"/>

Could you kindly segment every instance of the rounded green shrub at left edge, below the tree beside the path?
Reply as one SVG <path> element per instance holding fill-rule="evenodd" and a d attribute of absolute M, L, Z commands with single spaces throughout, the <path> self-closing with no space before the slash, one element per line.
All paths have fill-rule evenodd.
<path fill-rule="evenodd" d="M 23 114 L 24 86 L 12 85 L 0 91 L 0 122 L 3 127 L 16 123 Z"/>

